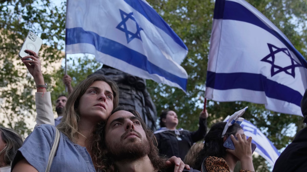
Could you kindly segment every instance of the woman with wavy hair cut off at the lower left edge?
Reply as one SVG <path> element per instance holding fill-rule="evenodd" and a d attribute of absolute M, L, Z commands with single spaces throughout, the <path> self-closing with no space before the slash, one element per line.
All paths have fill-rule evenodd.
<path fill-rule="evenodd" d="M 0 171 L 11 171 L 11 162 L 22 145 L 21 136 L 13 129 L 0 127 Z"/>

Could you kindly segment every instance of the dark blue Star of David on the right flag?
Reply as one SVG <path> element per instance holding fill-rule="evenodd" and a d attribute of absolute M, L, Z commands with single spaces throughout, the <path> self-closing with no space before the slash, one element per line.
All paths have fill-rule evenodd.
<path fill-rule="evenodd" d="M 295 78 L 295 72 L 294 72 L 295 67 L 301 67 L 302 65 L 299 64 L 298 62 L 296 62 L 292 58 L 289 50 L 287 48 L 278 48 L 278 47 L 276 47 L 276 46 L 274 46 L 272 44 L 269 44 L 269 43 L 268 43 L 268 47 L 270 49 L 270 54 L 268 54 L 261 61 L 262 62 L 268 62 L 268 63 L 270 63 L 272 65 L 272 67 L 271 67 L 271 77 L 273 77 L 277 73 L 285 72 L 286 74 L 289 74 L 293 78 Z M 288 65 L 286 67 L 282 67 L 282 66 L 278 66 L 278 65 L 274 64 L 274 63 L 276 63 L 276 61 L 279 60 L 279 59 L 276 59 L 276 57 L 275 57 L 275 54 L 277 54 L 279 52 L 283 52 L 284 55 L 286 55 L 286 56 L 288 56 L 290 58 L 290 61 L 291 61 L 290 65 Z"/>

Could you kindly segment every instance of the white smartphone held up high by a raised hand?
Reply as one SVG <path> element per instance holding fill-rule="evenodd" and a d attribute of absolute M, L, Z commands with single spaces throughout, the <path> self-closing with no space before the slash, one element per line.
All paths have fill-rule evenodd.
<path fill-rule="evenodd" d="M 29 32 L 27 37 L 25 38 L 25 42 L 21 46 L 18 56 L 20 58 L 23 58 L 29 55 L 25 52 L 25 50 L 32 50 L 36 52 L 36 54 L 38 54 L 38 51 L 41 48 L 42 43 L 43 40 L 40 37 L 36 36 L 33 32 Z"/>

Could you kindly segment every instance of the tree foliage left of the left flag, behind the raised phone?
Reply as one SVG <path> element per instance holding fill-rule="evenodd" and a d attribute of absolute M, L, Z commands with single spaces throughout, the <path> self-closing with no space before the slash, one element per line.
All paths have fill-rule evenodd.
<path fill-rule="evenodd" d="M 45 82 L 52 83 L 54 62 L 63 58 L 65 3 L 55 6 L 49 0 L 2 0 L 0 4 L 0 124 L 27 135 L 35 114 L 34 80 L 18 57 L 29 31 L 45 43 L 40 51 Z M 46 71 L 49 70 L 49 71 Z M 3 115 L 3 116 L 2 116 Z"/>

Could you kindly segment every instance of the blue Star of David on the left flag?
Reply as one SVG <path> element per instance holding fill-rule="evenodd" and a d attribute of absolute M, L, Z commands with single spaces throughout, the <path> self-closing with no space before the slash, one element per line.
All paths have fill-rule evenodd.
<path fill-rule="evenodd" d="M 143 30 L 139 25 L 138 23 L 135 21 L 134 17 L 133 17 L 133 12 L 131 13 L 125 13 L 124 11 L 122 11 L 121 9 L 119 9 L 120 11 L 120 15 L 122 17 L 122 21 L 116 26 L 116 28 L 118 28 L 119 30 L 121 30 L 122 32 L 125 32 L 126 34 L 126 39 L 127 39 L 127 43 L 129 43 L 130 41 L 132 41 L 134 38 L 137 38 L 137 39 L 141 39 L 141 35 L 140 35 L 140 31 Z M 130 32 L 128 30 L 128 27 L 127 27 L 127 21 L 131 19 L 132 21 L 135 22 L 135 27 L 136 27 L 136 32 L 133 33 L 133 32 Z M 131 28 L 131 24 L 128 25 L 129 26 L 129 29 L 134 29 L 134 28 Z"/>

